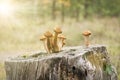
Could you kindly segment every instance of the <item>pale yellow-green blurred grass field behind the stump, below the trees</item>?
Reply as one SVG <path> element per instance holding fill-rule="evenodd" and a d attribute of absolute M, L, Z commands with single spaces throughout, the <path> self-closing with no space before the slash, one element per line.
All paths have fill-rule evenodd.
<path fill-rule="evenodd" d="M 81 33 L 90 30 L 91 44 L 104 44 L 107 46 L 111 62 L 117 67 L 120 56 L 120 21 L 118 18 L 94 18 L 75 22 L 67 19 L 65 23 L 50 19 L 20 19 L 15 21 L 0 20 L 0 52 L 9 54 L 15 51 L 44 50 L 39 37 L 47 30 L 62 27 L 63 34 L 67 37 L 66 46 L 84 45 Z M 4 55 L 4 54 L 0 54 Z M 119 69 L 119 68 L 118 68 Z M 4 80 L 3 63 L 0 65 L 0 80 Z M 120 72 L 120 70 L 118 71 Z M 119 73 L 120 79 L 120 73 Z"/>

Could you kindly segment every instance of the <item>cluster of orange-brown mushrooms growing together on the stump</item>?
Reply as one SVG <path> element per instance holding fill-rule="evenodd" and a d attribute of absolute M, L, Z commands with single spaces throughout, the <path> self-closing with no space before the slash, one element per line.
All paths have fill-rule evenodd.
<path fill-rule="evenodd" d="M 65 45 L 66 38 L 62 35 L 60 27 L 54 29 L 54 34 L 50 31 L 46 31 L 40 41 L 44 42 L 44 47 L 48 53 L 57 53 Z"/>

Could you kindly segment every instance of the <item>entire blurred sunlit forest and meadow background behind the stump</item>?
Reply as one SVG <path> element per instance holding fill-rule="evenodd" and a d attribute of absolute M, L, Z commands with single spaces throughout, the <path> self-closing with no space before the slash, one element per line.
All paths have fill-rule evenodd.
<path fill-rule="evenodd" d="M 66 46 L 84 45 L 82 32 L 90 30 L 91 44 L 107 46 L 120 80 L 120 0 L 0 0 L 0 80 L 6 58 L 44 50 L 40 36 L 58 26 Z"/>

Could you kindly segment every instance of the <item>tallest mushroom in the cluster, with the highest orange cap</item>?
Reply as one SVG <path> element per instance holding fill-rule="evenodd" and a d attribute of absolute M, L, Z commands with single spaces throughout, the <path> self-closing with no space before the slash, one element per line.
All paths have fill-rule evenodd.
<path fill-rule="evenodd" d="M 54 32 L 55 32 L 55 34 L 54 34 L 54 40 L 53 40 L 53 46 L 54 46 L 53 52 L 59 52 L 58 35 L 62 33 L 61 28 L 60 27 L 56 27 L 54 29 Z"/>

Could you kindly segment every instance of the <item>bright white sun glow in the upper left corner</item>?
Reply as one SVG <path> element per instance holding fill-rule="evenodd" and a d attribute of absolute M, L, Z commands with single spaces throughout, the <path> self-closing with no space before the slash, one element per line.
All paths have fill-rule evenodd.
<path fill-rule="evenodd" d="M 10 3 L 0 3 L 0 15 L 11 16 L 14 12 L 14 7 Z"/>

